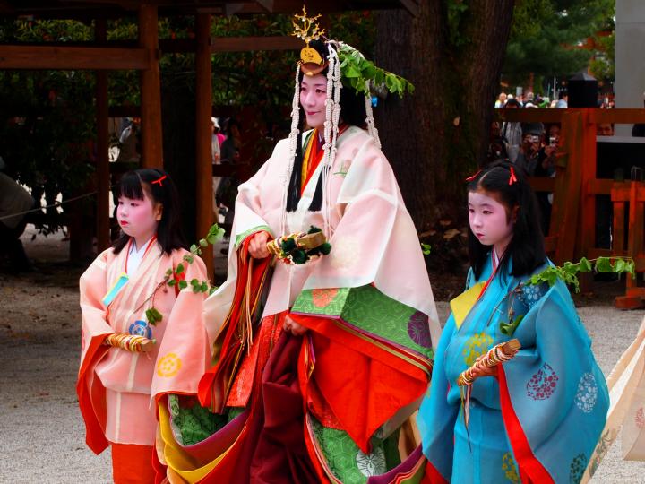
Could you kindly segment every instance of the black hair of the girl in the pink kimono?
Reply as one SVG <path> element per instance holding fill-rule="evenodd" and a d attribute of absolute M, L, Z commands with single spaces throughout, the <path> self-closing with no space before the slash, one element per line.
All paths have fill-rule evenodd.
<path fill-rule="evenodd" d="M 143 200 L 144 191 L 153 204 L 161 203 L 162 206 L 161 220 L 157 227 L 157 241 L 161 250 L 169 255 L 176 248 L 186 248 L 179 219 L 179 194 L 172 178 L 162 169 L 133 169 L 125 173 L 116 186 L 117 197 Z M 121 252 L 129 240 L 130 236 L 122 233 L 114 243 L 114 253 Z"/>

